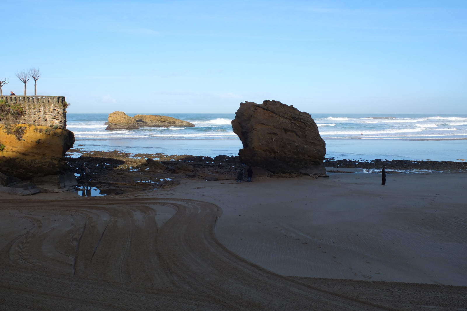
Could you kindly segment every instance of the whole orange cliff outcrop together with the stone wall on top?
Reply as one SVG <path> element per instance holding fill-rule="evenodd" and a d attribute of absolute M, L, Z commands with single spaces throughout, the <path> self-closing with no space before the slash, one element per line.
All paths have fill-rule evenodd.
<path fill-rule="evenodd" d="M 63 96 L 0 96 L 0 171 L 29 178 L 64 174 L 74 134 Z"/>

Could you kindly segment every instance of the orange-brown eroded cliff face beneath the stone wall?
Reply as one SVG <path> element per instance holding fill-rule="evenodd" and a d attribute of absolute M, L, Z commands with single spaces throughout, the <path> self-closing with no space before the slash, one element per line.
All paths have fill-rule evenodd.
<path fill-rule="evenodd" d="M 0 170 L 20 178 L 63 173 L 65 152 L 74 142 L 73 132 L 67 129 L 1 124 Z"/>

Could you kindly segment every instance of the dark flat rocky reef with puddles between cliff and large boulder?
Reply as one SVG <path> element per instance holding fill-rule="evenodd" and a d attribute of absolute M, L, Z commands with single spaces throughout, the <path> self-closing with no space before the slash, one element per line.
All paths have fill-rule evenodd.
<path fill-rule="evenodd" d="M 72 170 L 80 173 L 82 163 L 91 170 L 91 180 L 78 177 L 80 184 L 88 184 L 101 194 L 121 194 L 168 188 L 184 178 L 201 180 L 231 180 L 238 170 L 244 170 L 238 156 L 164 155 L 120 152 L 85 152 L 78 158 L 68 158 Z M 255 180 L 269 176 L 269 172 L 254 168 Z"/>

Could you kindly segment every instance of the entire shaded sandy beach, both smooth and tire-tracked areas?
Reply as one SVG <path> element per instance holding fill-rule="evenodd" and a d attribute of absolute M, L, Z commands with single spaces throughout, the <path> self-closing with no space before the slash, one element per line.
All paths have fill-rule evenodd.
<path fill-rule="evenodd" d="M 330 175 L 0 194 L 0 310 L 467 309 L 466 174 Z"/>

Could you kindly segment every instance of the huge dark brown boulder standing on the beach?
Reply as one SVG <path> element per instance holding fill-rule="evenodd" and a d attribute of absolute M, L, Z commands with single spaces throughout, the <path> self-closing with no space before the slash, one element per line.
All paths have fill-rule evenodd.
<path fill-rule="evenodd" d="M 232 120 L 240 160 L 277 173 L 324 174 L 326 147 L 309 113 L 276 100 L 244 102 Z"/>

